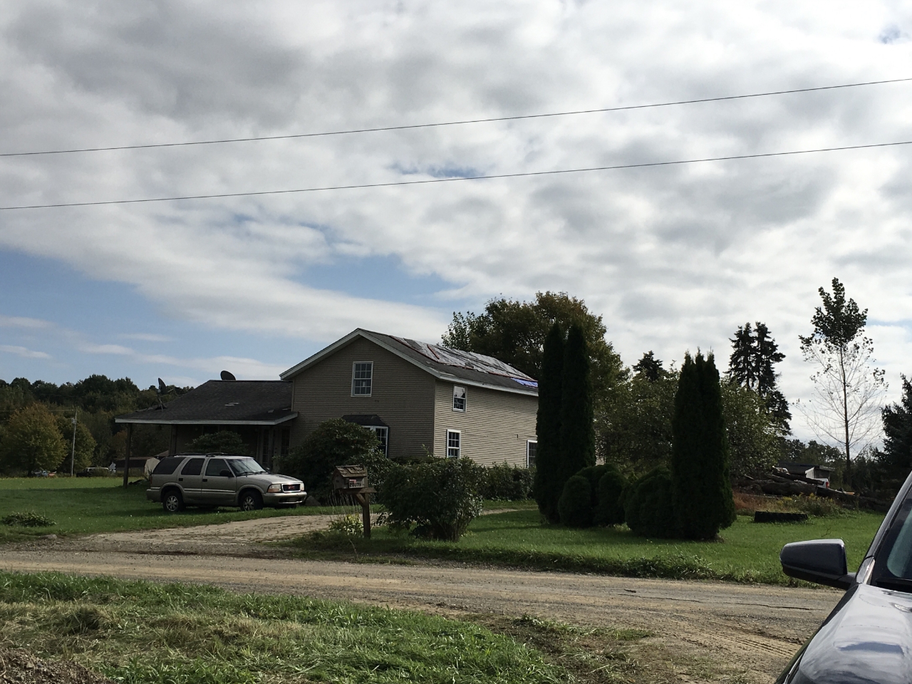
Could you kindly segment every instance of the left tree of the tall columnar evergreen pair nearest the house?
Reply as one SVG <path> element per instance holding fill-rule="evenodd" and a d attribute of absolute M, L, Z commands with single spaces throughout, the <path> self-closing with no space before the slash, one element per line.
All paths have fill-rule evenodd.
<path fill-rule="evenodd" d="M 564 371 L 564 335 L 558 324 L 551 326 L 544 339 L 542 372 L 538 378 L 538 415 L 535 433 L 535 480 L 533 495 L 538 510 L 550 522 L 560 520 L 557 502 L 564 491 L 561 479 L 561 400 Z"/>

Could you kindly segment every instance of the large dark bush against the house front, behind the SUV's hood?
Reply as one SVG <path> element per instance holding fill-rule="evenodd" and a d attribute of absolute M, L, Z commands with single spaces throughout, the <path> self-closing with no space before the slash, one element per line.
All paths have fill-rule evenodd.
<path fill-rule="evenodd" d="M 380 490 L 389 459 L 380 451 L 380 441 L 371 430 L 341 418 L 316 426 L 296 449 L 276 461 L 277 468 L 305 484 L 307 492 L 326 503 L 332 496 L 333 469 L 337 465 L 363 465 L 370 486 Z"/>

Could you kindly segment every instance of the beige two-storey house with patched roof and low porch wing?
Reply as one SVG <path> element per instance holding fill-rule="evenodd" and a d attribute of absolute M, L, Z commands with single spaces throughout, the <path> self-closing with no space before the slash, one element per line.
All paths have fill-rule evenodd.
<path fill-rule="evenodd" d="M 234 430 L 266 466 L 332 418 L 376 432 L 391 458 L 430 452 L 529 466 L 537 410 L 535 379 L 496 358 L 359 328 L 280 380 L 210 380 L 117 421 L 171 426 L 171 453 Z"/>

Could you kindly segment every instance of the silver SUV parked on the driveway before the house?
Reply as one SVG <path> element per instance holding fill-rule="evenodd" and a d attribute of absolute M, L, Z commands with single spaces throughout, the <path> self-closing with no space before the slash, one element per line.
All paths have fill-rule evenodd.
<path fill-rule="evenodd" d="M 264 506 L 294 506 L 306 496 L 304 482 L 266 472 L 249 456 L 224 453 L 167 456 L 155 466 L 146 490 L 146 498 L 161 502 L 168 513 L 189 505 L 255 511 Z"/>

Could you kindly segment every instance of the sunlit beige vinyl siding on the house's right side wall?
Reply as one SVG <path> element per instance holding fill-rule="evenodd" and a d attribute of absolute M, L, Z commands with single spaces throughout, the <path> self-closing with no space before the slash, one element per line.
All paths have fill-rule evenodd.
<path fill-rule="evenodd" d="M 465 412 L 454 411 L 453 386 L 465 387 Z M 434 454 L 446 456 L 447 430 L 461 432 L 461 458 L 482 465 L 525 466 L 527 440 L 535 439 L 538 398 L 458 382 L 436 381 Z"/>

